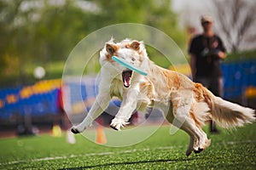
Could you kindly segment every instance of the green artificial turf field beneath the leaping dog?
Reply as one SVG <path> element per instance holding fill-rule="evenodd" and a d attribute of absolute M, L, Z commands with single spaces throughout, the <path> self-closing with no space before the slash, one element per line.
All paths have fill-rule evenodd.
<path fill-rule="evenodd" d="M 220 130 L 208 134 L 207 150 L 189 157 L 189 136 L 181 130 L 170 135 L 166 125 L 141 143 L 118 148 L 94 144 L 81 134 L 76 144 L 67 144 L 65 135 L 1 139 L 0 169 L 255 169 L 256 124 Z"/>

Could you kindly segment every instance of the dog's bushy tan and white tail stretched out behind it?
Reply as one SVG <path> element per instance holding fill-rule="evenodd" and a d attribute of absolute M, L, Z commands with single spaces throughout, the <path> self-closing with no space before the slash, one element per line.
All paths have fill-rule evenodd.
<path fill-rule="evenodd" d="M 209 105 L 212 120 L 221 127 L 242 127 L 245 123 L 256 121 L 255 111 L 214 96 L 207 88 L 196 83 Z"/>

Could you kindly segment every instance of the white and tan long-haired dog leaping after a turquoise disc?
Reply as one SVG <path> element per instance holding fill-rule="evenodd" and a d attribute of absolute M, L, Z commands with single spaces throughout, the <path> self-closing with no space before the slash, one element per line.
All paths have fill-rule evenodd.
<path fill-rule="evenodd" d="M 148 73 L 143 76 L 115 62 L 112 56 L 125 59 L 131 65 Z M 205 150 L 211 140 L 202 126 L 213 120 L 221 127 L 241 127 L 255 121 L 255 111 L 214 96 L 201 83 L 176 71 L 166 70 L 148 58 L 143 42 L 125 39 L 106 42 L 100 52 L 101 82 L 96 101 L 84 121 L 71 128 L 82 133 L 108 107 L 113 96 L 122 100 L 119 111 L 110 127 L 120 130 L 128 124 L 134 110 L 145 111 L 148 107 L 168 106 L 166 120 L 189 134 L 186 155 Z"/>

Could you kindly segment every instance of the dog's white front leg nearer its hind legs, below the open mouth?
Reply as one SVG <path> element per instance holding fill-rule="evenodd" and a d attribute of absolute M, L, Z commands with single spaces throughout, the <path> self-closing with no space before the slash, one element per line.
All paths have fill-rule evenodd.
<path fill-rule="evenodd" d="M 137 89 L 130 89 L 123 94 L 123 101 L 121 103 L 120 109 L 116 116 L 113 118 L 110 127 L 115 130 L 120 130 L 120 127 L 124 127 L 129 122 L 132 112 L 137 106 L 137 95 L 139 91 Z"/>

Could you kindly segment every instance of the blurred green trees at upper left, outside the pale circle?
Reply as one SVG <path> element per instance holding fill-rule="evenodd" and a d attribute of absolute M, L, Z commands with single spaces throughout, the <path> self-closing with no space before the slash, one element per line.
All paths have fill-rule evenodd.
<path fill-rule="evenodd" d="M 63 68 L 83 37 L 125 22 L 154 26 L 185 49 L 185 33 L 178 28 L 168 0 L 0 0 L 1 86 L 35 81 L 32 70 L 37 65 L 46 71 L 55 63 Z M 61 77 L 61 71 L 46 78 L 56 77 Z"/>

